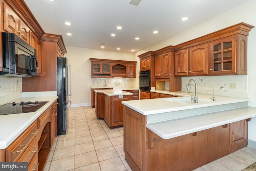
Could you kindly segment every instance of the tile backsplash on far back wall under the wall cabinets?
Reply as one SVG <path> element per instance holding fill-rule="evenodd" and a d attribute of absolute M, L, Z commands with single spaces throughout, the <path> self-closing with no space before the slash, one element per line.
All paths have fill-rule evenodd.
<path fill-rule="evenodd" d="M 136 78 L 91 78 L 91 87 L 133 88 Z"/>

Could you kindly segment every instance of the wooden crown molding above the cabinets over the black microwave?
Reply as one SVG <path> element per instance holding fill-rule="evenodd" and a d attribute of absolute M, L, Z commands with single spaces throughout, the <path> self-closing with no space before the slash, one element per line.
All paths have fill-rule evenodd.
<path fill-rule="evenodd" d="M 36 34 L 38 38 L 41 38 L 44 34 L 44 30 L 24 2 L 24 0 L 3 0 L 13 8 L 18 16 L 29 26 L 29 28 Z"/>

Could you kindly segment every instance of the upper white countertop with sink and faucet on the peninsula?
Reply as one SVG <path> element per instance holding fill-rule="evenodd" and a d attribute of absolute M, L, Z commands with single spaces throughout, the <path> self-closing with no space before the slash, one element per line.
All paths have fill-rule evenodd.
<path fill-rule="evenodd" d="M 210 100 L 211 95 L 198 93 L 198 103 L 178 103 L 174 99 L 189 99 L 194 93 L 187 92 L 170 92 L 172 95 L 183 95 L 183 97 L 170 97 L 170 98 L 158 98 L 158 99 L 143 99 L 143 100 L 131 100 L 122 101 L 122 104 L 138 111 L 142 115 L 151 115 L 156 113 L 165 113 L 170 111 L 180 111 L 185 109 L 196 109 L 200 107 L 209 107 L 215 105 L 224 105 L 230 103 L 239 103 L 244 101 L 250 101 L 250 99 L 226 97 L 216 95 L 216 101 Z M 202 99 L 202 100 L 200 100 Z"/>

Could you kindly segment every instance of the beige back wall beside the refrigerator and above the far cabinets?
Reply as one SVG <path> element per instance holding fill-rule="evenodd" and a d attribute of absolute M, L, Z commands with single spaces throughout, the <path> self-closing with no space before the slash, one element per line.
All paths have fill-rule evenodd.
<path fill-rule="evenodd" d="M 66 47 L 68 64 L 72 66 L 72 106 L 90 105 L 91 63 L 89 58 L 133 61 L 132 53 Z"/>

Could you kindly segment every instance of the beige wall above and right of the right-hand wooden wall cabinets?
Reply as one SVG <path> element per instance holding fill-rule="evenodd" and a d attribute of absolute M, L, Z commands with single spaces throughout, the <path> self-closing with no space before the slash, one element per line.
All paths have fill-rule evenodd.
<path fill-rule="evenodd" d="M 256 0 L 250 0 L 236 8 L 233 8 L 229 11 L 226 11 L 218 16 L 215 16 L 205 22 L 202 22 L 184 32 L 180 32 L 166 40 L 155 44 L 154 46 L 150 46 L 140 52 L 134 54 L 134 56 L 143 54 L 148 51 L 158 50 L 160 48 L 164 48 L 169 45 L 177 45 L 182 42 L 186 42 L 188 40 L 192 40 L 194 38 L 198 38 L 200 36 L 204 36 L 205 34 L 215 32 L 222 28 L 226 28 L 228 26 L 232 26 L 234 24 L 245 22 L 256 26 Z M 202 14 L 203 15 L 203 14 Z M 189 22 L 189 20 L 187 21 Z M 250 106 L 256 107 L 256 28 L 253 28 L 249 32 L 248 36 L 248 75 L 243 76 L 244 78 L 244 93 L 248 93 L 251 101 L 249 102 Z M 236 82 L 236 78 L 241 76 L 226 76 L 227 79 L 234 77 L 234 82 Z M 219 76 L 220 80 L 222 79 Z M 186 80 L 186 79 L 182 79 Z M 218 80 L 218 79 L 217 79 Z M 240 79 L 237 79 L 240 80 Z M 183 84 L 183 83 L 182 83 Z M 234 94 L 237 94 L 239 97 L 239 93 L 234 91 Z M 252 121 L 249 123 L 249 131 L 248 138 L 252 141 L 256 141 L 256 118 L 252 118 Z"/>

